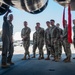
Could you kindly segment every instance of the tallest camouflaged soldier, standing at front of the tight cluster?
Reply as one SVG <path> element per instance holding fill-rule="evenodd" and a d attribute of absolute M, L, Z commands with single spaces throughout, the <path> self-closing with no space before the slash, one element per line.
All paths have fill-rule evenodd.
<path fill-rule="evenodd" d="M 59 38 L 59 30 L 58 28 L 54 25 L 55 21 L 50 20 L 50 23 L 52 25 L 51 27 L 51 48 L 54 51 L 54 59 L 53 61 L 59 61 L 58 55 L 59 55 L 59 50 L 58 50 L 58 38 Z"/>

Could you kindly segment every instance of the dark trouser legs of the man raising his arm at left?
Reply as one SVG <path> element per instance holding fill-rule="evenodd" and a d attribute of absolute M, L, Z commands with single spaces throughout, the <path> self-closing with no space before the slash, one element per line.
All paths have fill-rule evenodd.
<path fill-rule="evenodd" d="M 2 47 L 2 64 L 11 62 L 13 52 L 14 52 L 13 43 L 11 43 L 9 38 L 5 37 L 3 39 L 3 47 Z"/>

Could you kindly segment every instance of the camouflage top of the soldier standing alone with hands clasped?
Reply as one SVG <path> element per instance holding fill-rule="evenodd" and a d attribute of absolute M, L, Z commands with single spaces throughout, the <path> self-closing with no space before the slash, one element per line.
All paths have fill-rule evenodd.
<path fill-rule="evenodd" d="M 21 31 L 21 37 L 23 38 L 23 36 L 25 37 L 25 40 L 30 40 L 30 32 L 31 32 L 31 29 L 29 27 L 25 27 L 22 29 Z"/>

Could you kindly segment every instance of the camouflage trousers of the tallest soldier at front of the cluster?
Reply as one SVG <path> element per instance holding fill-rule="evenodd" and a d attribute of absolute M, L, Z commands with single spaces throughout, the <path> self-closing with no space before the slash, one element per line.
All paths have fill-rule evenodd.
<path fill-rule="evenodd" d="M 58 57 L 59 56 L 59 49 L 58 49 L 58 45 L 59 45 L 59 41 L 56 40 L 55 42 L 55 38 L 51 39 L 51 46 L 53 46 L 54 48 L 54 56 Z"/>

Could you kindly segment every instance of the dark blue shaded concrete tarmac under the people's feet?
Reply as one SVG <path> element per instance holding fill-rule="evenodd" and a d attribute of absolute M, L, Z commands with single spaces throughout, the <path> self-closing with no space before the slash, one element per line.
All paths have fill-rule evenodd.
<path fill-rule="evenodd" d="M 21 60 L 23 56 L 24 53 L 14 53 L 12 61 L 15 65 L 6 69 L 0 67 L 0 75 L 75 75 L 75 60 L 71 58 L 70 63 L 64 63 L 64 53 L 59 62 L 52 61 L 52 57 L 51 60 L 38 60 L 38 54 L 36 54 L 36 58 L 34 59 Z M 46 58 L 46 56 L 45 54 L 44 57 Z M 72 53 L 72 57 L 75 57 L 75 53 Z"/>

